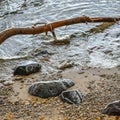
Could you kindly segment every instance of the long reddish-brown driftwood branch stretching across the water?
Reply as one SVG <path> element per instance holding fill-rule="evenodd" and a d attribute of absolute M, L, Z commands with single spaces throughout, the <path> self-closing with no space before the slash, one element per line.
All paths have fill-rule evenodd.
<path fill-rule="evenodd" d="M 49 24 L 45 24 L 43 26 L 34 26 L 31 28 L 10 28 L 0 32 L 0 44 L 2 44 L 7 38 L 18 35 L 18 34 L 39 34 L 39 33 L 47 33 L 48 31 L 53 32 L 55 28 L 78 24 L 78 23 L 94 23 L 94 22 L 116 22 L 119 21 L 120 18 L 89 18 L 87 16 L 72 18 L 61 20 L 57 22 L 52 22 Z"/>

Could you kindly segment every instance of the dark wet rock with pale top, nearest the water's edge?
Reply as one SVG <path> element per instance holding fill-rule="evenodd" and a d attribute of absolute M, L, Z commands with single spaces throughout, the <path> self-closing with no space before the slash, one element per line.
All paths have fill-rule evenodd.
<path fill-rule="evenodd" d="M 41 65 L 34 61 L 25 61 L 16 66 L 14 75 L 29 75 L 32 73 L 39 72 Z"/>

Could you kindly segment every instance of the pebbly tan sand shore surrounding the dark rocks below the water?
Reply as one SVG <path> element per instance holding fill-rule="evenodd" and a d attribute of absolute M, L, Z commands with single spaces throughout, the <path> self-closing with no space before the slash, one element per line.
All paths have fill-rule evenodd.
<path fill-rule="evenodd" d="M 58 97 L 41 99 L 30 96 L 28 87 L 35 81 L 69 78 L 75 82 L 84 99 L 79 105 L 64 103 Z M 120 100 L 120 67 L 111 69 L 66 69 L 57 74 L 36 73 L 13 77 L 14 84 L 0 89 L 1 120 L 113 120 L 102 115 L 103 107 Z"/>

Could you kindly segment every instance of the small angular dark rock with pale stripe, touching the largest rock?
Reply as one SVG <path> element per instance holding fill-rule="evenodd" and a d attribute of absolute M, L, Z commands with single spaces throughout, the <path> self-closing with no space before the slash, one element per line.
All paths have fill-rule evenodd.
<path fill-rule="evenodd" d="M 78 90 L 63 91 L 60 97 L 64 102 L 70 104 L 79 104 L 83 99 L 82 94 Z"/>

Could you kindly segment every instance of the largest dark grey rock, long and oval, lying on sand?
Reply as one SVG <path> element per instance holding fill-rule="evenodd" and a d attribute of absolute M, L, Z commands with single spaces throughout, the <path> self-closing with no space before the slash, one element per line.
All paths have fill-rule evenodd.
<path fill-rule="evenodd" d="M 62 91 L 73 86 L 74 83 L 69 79 L 40 81 L 30 86 L 28 93 L 41 98 L 58 96 Z"/>

